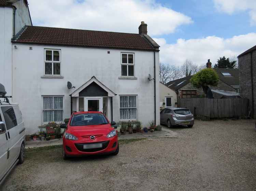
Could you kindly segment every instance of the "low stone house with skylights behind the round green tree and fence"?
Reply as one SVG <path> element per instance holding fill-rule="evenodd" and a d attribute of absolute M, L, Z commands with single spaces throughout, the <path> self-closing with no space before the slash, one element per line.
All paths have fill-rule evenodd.
<path fill-rule="evenodd" d="M 212 63 L 210 59 L 207 62 L 207 67 L 211 68 Z M 239 70 L 238 69 L 225 69 L 213 68 L 218 76 L 219 82 L 217 86 L 209 86 L 211 90 L 233 91 L 239 92 Z M 196 98 L 204 97 L 205 94 L 202 88 L 196 88 L 190 83 L 191 76 L 183 77 L 181 79 L 170 81 L 166 84 L 169 88 L 178 92 L 179 98 Z M 223 94 L 213 92 L 214 98 L 222 98 Z"/>

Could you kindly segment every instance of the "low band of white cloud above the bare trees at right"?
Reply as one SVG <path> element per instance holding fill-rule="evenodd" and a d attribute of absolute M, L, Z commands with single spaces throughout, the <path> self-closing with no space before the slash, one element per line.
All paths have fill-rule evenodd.
<path fill-rule="evenodd" d="M 182 65 L 185 59 L 202 65 L 211 59 L 212 64 L 221 56 L 238 56 L 255 46 L 256 33 L 220 38 L 208 36 L 198 39 L 178 39 L 175 44 L 167 44 L 163 38 L 154 38 L 160 47 L 160 62 Z"/>

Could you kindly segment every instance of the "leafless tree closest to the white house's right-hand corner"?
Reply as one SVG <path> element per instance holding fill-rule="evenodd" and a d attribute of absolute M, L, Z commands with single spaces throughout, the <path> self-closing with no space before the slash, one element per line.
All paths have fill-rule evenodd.
<path fill-rule="evenodd" d="M 159 77 L 160 82 L 166 84 L 171 80 L 176 80 L 180 77 L 179 68 L 175 65 L 169 65 L 166 63 L 159 64 Z"/>

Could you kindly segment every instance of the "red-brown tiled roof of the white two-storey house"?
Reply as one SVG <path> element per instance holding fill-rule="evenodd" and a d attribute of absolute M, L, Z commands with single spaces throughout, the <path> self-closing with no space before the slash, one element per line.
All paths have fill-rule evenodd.
<path fill-rule="evenodd" d="M 155 50 L 145 36 L 132 33 L 25 26 L 12 42 L 75 47 Z"/>

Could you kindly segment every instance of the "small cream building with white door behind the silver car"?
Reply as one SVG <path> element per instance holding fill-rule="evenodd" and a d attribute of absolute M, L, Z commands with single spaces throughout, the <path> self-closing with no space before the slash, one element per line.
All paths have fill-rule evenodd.
<path fill-rule="evenodd" d="M 160 109 L 177 106 L 177 93 L 173 89 L 160 82 L 159 90 Z"/>

